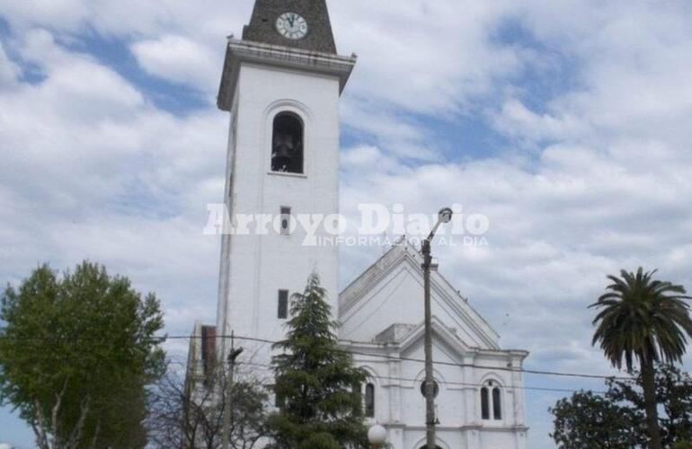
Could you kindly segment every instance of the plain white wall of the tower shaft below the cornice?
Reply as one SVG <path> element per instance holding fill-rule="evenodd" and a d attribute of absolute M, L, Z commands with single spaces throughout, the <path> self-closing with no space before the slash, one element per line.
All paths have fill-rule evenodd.
<path fill-rule="evenodd" d="M 229 139 L 226 203 L 231 214 L 336 214 L 339 210 L 339 80 L 274 66 L 243 63 Z M 305 123 L 305 174 L 271 172 L 274 116 L 296 113 Z M 233 134 L 233 133 L 231 133 Z M 230 193 L 230 195 L 228 195 Z M 305 234 L 233 235 L 223 239 L 217 329 L 219 334 L 276 340 L 279 289 L 302 292 L 309 274 L 322 277 L 333 310 L 337 305 L 337 250 L 304 246 Z M 255 363 L 269 363 L 269 344 L 237 343 Z M 227 350 L 221 345 L 222 354 Z"/>

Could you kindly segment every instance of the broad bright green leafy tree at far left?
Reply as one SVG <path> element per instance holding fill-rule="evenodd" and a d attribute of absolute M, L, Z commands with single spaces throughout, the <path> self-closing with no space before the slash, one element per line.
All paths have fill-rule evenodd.
<path fill-rule="evenodd" d="M 146 445 L 146 385 L 164 368 L 155 295 L 86 261 L 62 277 L 44 265 L 6 288 L 0 320 L 0 401 L 41 449 Z"/>

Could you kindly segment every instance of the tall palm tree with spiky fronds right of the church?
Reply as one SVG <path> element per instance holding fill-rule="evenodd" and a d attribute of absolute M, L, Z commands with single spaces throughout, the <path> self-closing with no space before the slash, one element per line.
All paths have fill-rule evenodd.
<path fill-rule="evenodd" d="M 623 357 L 628 371 L 633 360 L 639 361 L 644 408 L 652 449 L 661 449 L 654 361 L 679 362 L 685 354 L 687 338 L 692 337 L 692 318 L 685 302 L 683 286 L 653 279 L 656 270 L 636 274 L 622 270 L 620 277 L 608 276 L 612 281 L 599 301 L 589 307 L 597 307 L 599 314 L 593 320 L 597 326 L 592 345 L 600 342 L 600 348 L 610 362 L 622 368 Z"/>

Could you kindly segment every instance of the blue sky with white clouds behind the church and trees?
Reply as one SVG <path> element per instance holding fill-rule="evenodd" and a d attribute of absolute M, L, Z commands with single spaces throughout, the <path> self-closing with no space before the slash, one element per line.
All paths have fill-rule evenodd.
<path fill-rule="evenodd" d="M 214 321 L 226 35 L 252 0 L 0 0 L 0 281 L 85 258 Z M 358 66 L 342 101 L 342 210 L 457 203 L 488 245 L 440 270 L 536 369 L 610 373 L 586 306 L 618 269 L 692 288 L 692 4 L 330 2 Z M 381 253 L 343 249 L 342 285 Z M 170 346 L 182 357 L 183 346 Z M 688 368 L 692 366 L 687 358 Z M 602 383 L 528 375 L 527 386 Z M 528 391 L 532 449 L 552 447 Z M 0 410 L 0 440 L 31 432 Z"/>

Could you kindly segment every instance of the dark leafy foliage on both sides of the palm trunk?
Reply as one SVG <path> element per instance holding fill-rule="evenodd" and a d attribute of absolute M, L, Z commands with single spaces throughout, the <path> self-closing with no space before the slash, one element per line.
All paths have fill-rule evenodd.
<path fill-rule="evenodd" d="M 646 447 L 643 378 L 609 379 L 603 394 L 575 392 L 557 401 L 554 415 L 555 444 L 563 449 Z M 692 441 L 692 377 L 674 365 L 659 365 L 655 377 L 656 401 L 664 411 L 659 417 L 662 447 L 684 447 Z"/>

